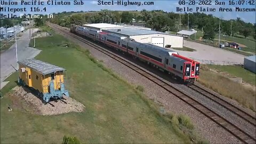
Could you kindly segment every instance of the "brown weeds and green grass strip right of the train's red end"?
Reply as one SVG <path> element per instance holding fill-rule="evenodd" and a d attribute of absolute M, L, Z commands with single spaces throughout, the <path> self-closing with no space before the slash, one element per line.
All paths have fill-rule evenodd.
<path fill-rule="evenodd" d="M 255 85 L 255 74 L 238 66 L 202 65 L 200 78 L 198 79 L 198 82 L 206 87 L 209 87 L 225 97 L 234 99 L 244 107 L 255 111 L 256 95 L 253 90 L 247 89 L 245 86 L 233 82 L 227 77 L 214 73 L 213 71 L 210 71 L 209 68 L 225 71 L 230 76 L 242 77 L 243 81 L 253 85 Z"/>

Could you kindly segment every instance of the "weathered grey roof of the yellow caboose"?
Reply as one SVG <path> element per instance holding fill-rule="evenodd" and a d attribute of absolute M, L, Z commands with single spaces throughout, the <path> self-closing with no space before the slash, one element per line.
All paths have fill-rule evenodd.
<path fill-rule="evenodd" d="M 22 61 L 18 61 L 18 63 L 26 67 L 29 67 L 31 69 L 34 69 L 39 73 L 41 73 L 42 75 L 51 74 L 51 73 L 54 73 L 55 71 L 65 70 L 64 68 L 57 67 L 57 66 L 51 65 L 50 63 L 46 63 L 36 59 L 25 59 Z"/>

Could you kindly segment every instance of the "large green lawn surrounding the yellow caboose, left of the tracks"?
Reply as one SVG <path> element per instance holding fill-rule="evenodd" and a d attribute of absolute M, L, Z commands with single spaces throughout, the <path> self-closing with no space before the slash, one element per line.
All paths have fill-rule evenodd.
<path fill-rule="evenodd" d="M 72 98 L 85 105 L 85 111 L 39 116 L 13 107 L 10 112 L 7 107 L 13 105 L 12 100 L 4 95 L 1 143 L 61 143 L 64 135 L 76 136 L 82 143 L 190 143 L 191 136 L 177 129 L 177 118 L 166 121 L 150 100 L 143 99 L 140 92 L 101 63 L 95 63 L 88 51 L 60 35 L 36 41 L 36 47 L 42 50 L 36 59 L 68 70 L 66 87 Z M 59 46 L 66 43 L 69 47 Z M 8 78 L 10 83 L 3 94 L 16 85 L 17 77 L 14 73 Z"/>

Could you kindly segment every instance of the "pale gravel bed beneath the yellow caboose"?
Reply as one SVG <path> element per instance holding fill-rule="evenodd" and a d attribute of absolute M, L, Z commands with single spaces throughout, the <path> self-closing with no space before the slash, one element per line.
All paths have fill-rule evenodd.
<path fill-rule="evenodd" d="M 79 113 L 85 109 L 82 103 L 66 96 L 64 96 L 66 103 L 61 100 L 51 101 L 54 107 L 50 103 L 44 104 L 41 99 L 23 86 L 15 86 L 9 93 L 9 97 L 13 101 L 13 107 L 22 108 L 28 113 L 38 115 L 59 115 L 72 111 Z"/>

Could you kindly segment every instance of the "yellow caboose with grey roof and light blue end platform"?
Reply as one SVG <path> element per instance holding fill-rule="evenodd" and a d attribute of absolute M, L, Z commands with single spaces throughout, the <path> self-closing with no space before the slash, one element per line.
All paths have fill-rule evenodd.
<path fill-rule="evenodd" d="M 36 90 L 45 102 L 50 98 L 62 98 L 63 94 L 69 97 L 64 85 L 65 69 L 36 59 L 25 59 L 18 63 L 18 82 Z"/>

